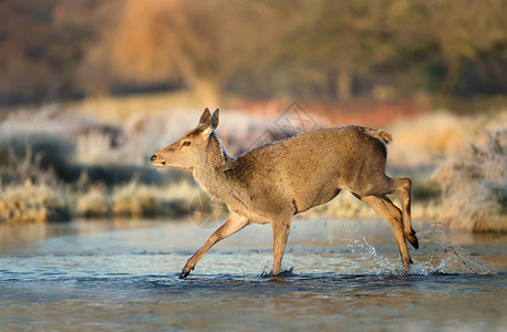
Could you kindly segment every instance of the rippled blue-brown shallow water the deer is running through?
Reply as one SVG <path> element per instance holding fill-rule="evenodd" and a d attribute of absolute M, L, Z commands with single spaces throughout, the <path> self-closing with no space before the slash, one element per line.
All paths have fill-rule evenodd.
<path fill-rule="evenodd" d="M 0 330 L 507 331 L 507 237 L 415 229 L 411 271 L 385 221 L 294 220 L 282 277 L 249 226 L 179 280 L 190 221 L 0 225 Z"/>

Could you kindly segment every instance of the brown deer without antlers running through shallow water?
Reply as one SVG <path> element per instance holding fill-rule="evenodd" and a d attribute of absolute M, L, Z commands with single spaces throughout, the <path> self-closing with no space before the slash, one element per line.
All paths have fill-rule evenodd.
<path fill-rule="evenodd" d="M 292 218 L 330 201 L 343 189 L 391 224 L 403 267 L 410 269 L 413 261 L 405 240 L 418 248 L 411 225 L 411 180 L 385 175 L 392 141 L 387 131 L 353 125 L 320 128 L 231 157 L 216 133 L 218 121 L 219 110 L 211 114 L 206 107 L 194 129 L 151 157 L 156 167 L 190 169 L 200 187 L 230 211 L 188 259 L 179 279 L 214 245 L 250 224 L 271 225 L 272 276 L 279 274 Z M 401 209 L 386 195 L 397 195 Z"/>

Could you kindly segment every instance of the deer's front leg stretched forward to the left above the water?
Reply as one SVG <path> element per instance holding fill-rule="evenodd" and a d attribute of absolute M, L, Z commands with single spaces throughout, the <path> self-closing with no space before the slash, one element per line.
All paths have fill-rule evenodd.
<path fill-rule="evenodd" d="M 196 253 L 187 261 L 185 267 L 179 274 L 179 279 L 186 278 L 190 270 L 194 270 L 196 263 L 203 258 L 203 256 L 218 241 L 234 235 L 241 228 L 248 225 L 248 219 L 241 217 L 237 214 L 231 212 L 229 219 L 227 219 L 224 225 L 221 225 L 215 232 L 209 237 L 209 239 L 197 250 Z"/>

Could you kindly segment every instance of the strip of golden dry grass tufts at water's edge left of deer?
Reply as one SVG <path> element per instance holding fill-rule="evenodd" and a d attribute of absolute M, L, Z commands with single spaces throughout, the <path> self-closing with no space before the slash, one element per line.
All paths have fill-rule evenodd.
<path fill-rule="evenodd" d="M 188 183 L 162 187 L 132 180 L 112 190 L 100 185 L 79 190 L 65 185 L 25 181 L 2 186 L 0 222 L 65 221 L 72 217 L 178 217 L 188 215 L 190 203 L 199 193 L 197 186 Z"/>

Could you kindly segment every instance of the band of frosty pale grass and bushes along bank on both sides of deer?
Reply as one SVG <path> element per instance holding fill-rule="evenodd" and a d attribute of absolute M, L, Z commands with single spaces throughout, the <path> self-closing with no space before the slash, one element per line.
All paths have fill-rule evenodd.
<path fill-rule="evenodd" d="M 157 170 L 148 158 L 195 126 L 198 110 L 136 113 L 116 122 L 75 110 L 18 111 L 0 123 L 1 221 L 188 216 L 200 188 L 188 172 Z M 441 112 L 389 128 L 394 141 L 387 174 L 412 178 L 414 219 L 506 231 L 506 116 Z M 268 125 L 226 112 L 218 133 L 236 155 Z M 348 193 L 306 216 L 379 217 Z"/>

